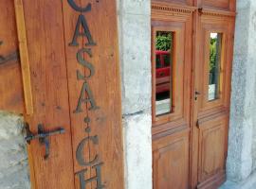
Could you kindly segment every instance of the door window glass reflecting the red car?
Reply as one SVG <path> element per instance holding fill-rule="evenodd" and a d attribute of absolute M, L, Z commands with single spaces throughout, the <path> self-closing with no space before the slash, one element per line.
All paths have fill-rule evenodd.
<path fill-rule="evenodd" d="M 173 112 L 174 32 L 156 31 L 155 36 L 155 114 Z"/>

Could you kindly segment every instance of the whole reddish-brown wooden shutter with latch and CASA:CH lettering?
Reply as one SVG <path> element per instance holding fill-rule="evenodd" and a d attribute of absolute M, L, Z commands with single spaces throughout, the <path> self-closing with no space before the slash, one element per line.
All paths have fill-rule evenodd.
<path fill-rule="evenodd" d="M 14 2 L 27 33 L 27 127 L 59 130 L 27 146 L 32 188 L 123 188 L 116 1 Z"/>

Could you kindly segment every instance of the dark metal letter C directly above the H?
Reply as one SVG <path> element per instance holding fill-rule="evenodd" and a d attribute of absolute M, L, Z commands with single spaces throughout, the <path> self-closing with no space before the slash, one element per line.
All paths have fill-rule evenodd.
<path fill-rule="evenodd" d="M 85 146 L 86 142 L 89 142 L 89 141 L 92 141 L 93 145 L 98 145 L 98 143 L 99 143 L 98 136 L 86 137 L 79 144 L 79 146 L 77 148 L 77 152 L 76 152 L 76 158 L 77 158 L 78 163 L 80 165 L 82 165 L 82 166 L 92 165 L 94 163 L 97 163 L 98 160 L 99 160 L 99 156 L 98 155 L 96 155 L 95 158 L 92 161 L 90 161 L 90 162 L 86 162 L 86 160 L 84 160 L 84 158 L 83 158 L 83 154 L 84 154 L 83 149 L 84 149 L 84 146 Z"/>

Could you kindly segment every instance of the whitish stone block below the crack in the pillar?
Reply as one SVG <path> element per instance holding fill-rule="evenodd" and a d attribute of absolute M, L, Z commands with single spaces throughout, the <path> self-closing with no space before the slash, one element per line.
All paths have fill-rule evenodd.
<path fill-rule="evenodd" d="M 152 188 L 151 125 L 151 113 L 123 118 L 126 189 Z"/>

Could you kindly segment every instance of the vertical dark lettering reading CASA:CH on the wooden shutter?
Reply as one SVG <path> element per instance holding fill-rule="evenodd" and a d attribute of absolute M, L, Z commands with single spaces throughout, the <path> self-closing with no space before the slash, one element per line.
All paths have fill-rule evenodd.
<path fill-rule="evenodd" d="M 93 62 L 90 62 L 90 60 L 93 60 L 92 58 L 95 56 L 93 55 L 93 47 L 97 46 L 97 43 L 93 39 L 93 33 L 91 33 L 90 31 L 84 14 L 91 13 L 92 4 L 87 3 L 85 7 L 80 7 L 74 2 L 74 0 L 67 0 L 67 2 L 74 12 L 79 13 L 79 16 L 77 24 L 74 28 L 72 41 L 68 43 L 68 46 L 66 48 L 79 48 L 77 53 L 74 54 L 74 57 L 77 59 L 78 65 L 85 69 L 85 72 L 82 72 L 79 68 L 76 70 L 76 72 L 74 72 L 74 75 L 76 75 L 77 77 L 77 83 L 82 83 L 82 86 L 79 98 L 77 98 L 77 106 L 72 113 L 74 113 L 73 116 L 76 116 L 75 114 L 84 115 L 83 132 L 88 134 L 88 136 L 82 139 L 76 149 L 76 162 L 79 166 L 85 166 L 85 168 L 80 168 L 80 170 L 76 172 L 76 176 L 79 178 L 79 185 L 81 188 L 86 188 L 86 186 L 90 185 L 93 180 L 96 180 L 96 188 L 104 188 L 105 185 L 101 180 L 101 166 L 104 165 L 104 162 L 101 159 L 100 152 L 97 150 L 97 148 L 99 148 L 98 146 L 101 139 L 97 133 L 92 136 L 90 135 L 92 133 L 92 115 L 89 112 L 101 110 L 101 107 L 97 105 L 96 96 L 93 94 L 90 83 L 88 82 L 90 79 L 92 79 L 92 77 L 95 77 L 95 66 Z M 82 37 L 82 40 L 79 41 L 80 37 Z M 80 45 L 82 47 L 80 47 Z M 90 154 L 90 148 L 91 151 L 96 150 L 95 155 L 89 157 L 88 160 L 86 160 L 86 158 L 84 157 L 84 151 L 86 151 L 87 144 L 90 144 L 89 149 L 87 149 L 88 154 Z M 95 169 L 95 176 L 90 176 L 86 178 L 86 173 L 89 171 L 89 169 Z"/>

